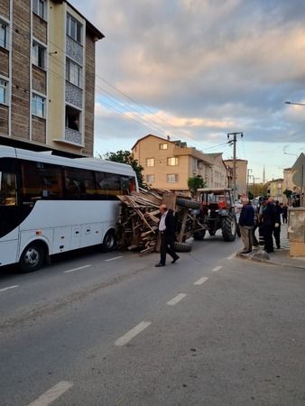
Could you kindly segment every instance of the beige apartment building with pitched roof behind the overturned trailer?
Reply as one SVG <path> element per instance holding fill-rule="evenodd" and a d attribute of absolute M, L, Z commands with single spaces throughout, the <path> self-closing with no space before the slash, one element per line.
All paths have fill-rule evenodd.
<path fill-rule="evenodd" d="M 189 190 L 188 179 L 202 177 L 207 185 L 219 186 L 222 181 L 224 165 L 217 168 L 217 161 L 187 143 L 171 141 L 148 134 L 133 146 L 134 159 L 143 166 L 144 181 L 153 188 Z"/>

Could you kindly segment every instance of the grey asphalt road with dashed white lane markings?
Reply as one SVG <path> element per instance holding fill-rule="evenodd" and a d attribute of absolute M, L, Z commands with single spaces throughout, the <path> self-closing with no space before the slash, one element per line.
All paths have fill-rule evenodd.
<path fill-rule="evenodd" d="M 0 272 L 0 405 L 304 405 L 305 273 L 240 240 Z"/>

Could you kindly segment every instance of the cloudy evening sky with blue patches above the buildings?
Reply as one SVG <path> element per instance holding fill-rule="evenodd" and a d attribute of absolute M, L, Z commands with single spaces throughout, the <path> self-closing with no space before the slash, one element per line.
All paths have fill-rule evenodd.
<path fill-rule="evenodd" d="M 70 0 L 97 42 L 95 152 L 156 134 L 282 177 L 305 152 L 304 0 Z M 286 153 L 284 153 L 286 152 Z"/>

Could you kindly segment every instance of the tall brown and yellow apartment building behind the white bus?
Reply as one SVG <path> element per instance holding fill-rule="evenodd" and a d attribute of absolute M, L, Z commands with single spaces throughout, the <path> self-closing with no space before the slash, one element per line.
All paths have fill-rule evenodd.
<path fill-rule="evenodd" d="M 93 155 L 103 37 L 66 1 L 0 0 L 0 143 Z"/>

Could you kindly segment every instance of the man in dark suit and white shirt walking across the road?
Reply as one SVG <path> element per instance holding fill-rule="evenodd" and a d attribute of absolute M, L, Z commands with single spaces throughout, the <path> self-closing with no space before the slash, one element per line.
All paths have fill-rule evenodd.
<path fill-rule="evenodd" d="M 175 253 L 173 243 L 175 241 L 175 217 L 172 210 L 168 210 L 166 205 L 161 205 L 160 208 L 161 219 L 159 223 L 159 233 L 161 234 L 160 245 L 160 263 L 155 266 L 165 266 L 166 254 L 170 254 L 172 261 L 175 263 L 179 260 L 179 255 Z"/>

